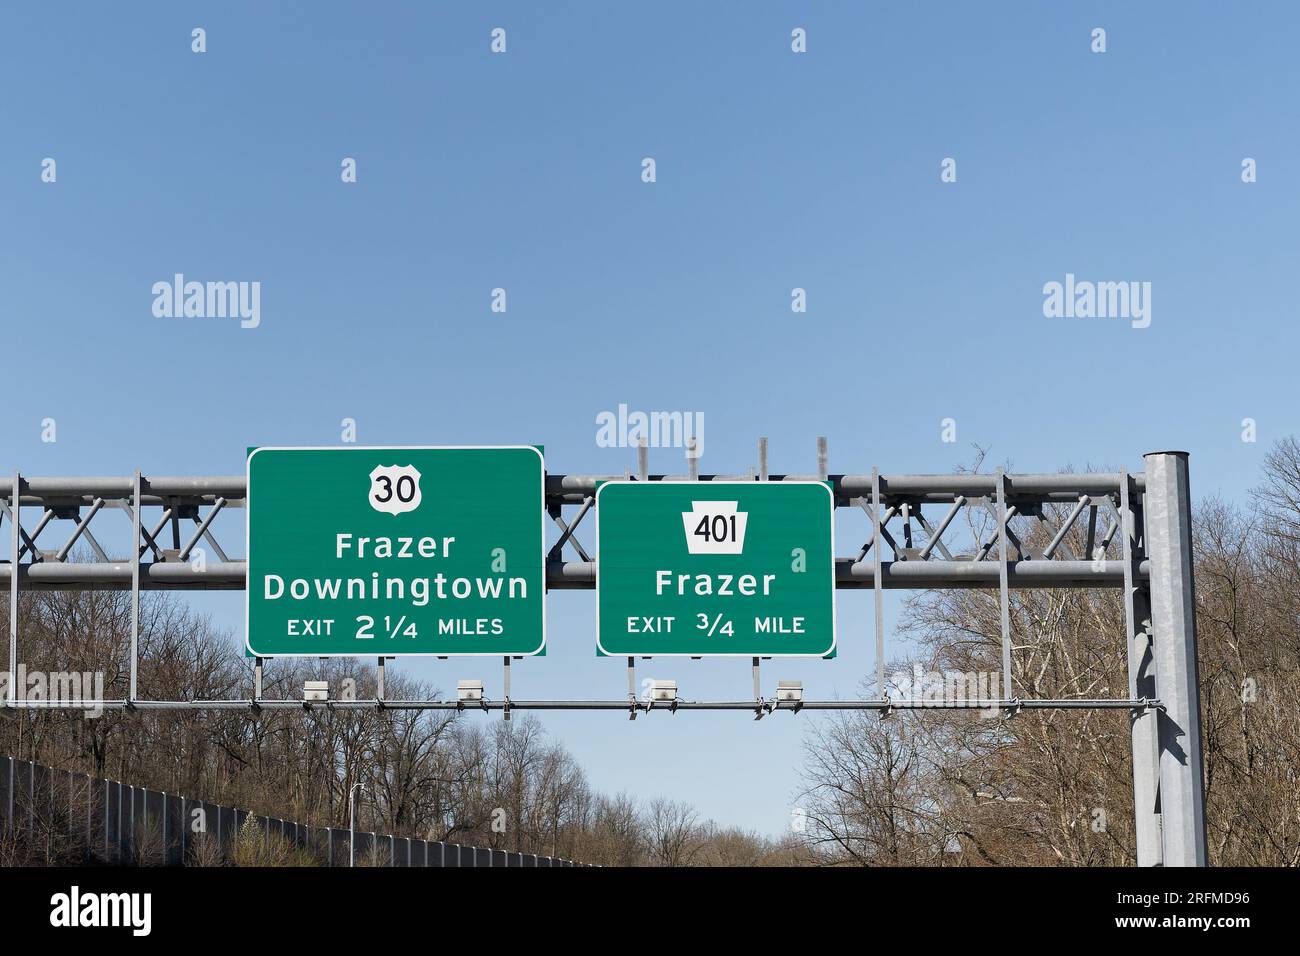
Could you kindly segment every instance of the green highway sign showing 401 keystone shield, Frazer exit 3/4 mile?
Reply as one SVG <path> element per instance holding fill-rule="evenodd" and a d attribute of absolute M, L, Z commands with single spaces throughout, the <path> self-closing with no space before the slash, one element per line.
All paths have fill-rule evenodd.
<path fill-rule="evenodd" d="M 601 485 L 597 649 L 829 656 L 833 509 L 829 486 L 818 481 Z"/>

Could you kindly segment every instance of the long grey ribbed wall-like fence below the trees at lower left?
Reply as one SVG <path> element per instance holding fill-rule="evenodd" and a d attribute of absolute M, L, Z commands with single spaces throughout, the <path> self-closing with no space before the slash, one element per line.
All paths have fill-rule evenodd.
<path fill-rule="evenodd" d="M 250 823 L 250 819 L 252 821 Z M 25 830 L 66 840 L 87 860 L 121 865 L 183 866 L 230 861 L 242 827 L 261 834 L 263 848 L 300 851 L 322 866 L 347 866 L 346 829 L 259 817 L 233 806 L 190 800 L 90 774 L 0 757 L 0 821 L 5 832 Z M 255 838 L 256 839 L 256 838 Z M 356 834 L 358 866 L 580 866 L 534 853 L 462 847 L 406 836 Z"/>

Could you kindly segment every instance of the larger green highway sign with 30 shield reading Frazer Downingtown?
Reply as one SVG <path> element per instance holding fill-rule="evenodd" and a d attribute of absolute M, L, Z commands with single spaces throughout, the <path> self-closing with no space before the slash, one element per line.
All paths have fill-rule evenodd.
<path fill-rule="evenodd" d="M 542 653 L 543 494 L 529 446 L 254 450 L 248 650 Z"/>

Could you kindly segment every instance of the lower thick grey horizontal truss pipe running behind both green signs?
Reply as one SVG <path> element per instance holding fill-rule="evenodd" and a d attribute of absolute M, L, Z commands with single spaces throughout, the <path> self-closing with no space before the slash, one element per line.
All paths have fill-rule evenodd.
<path fill-rule="evenodd" d="M 836 558 L 837 588 L 875 585 L 875 562 Z M 0 564 L 0 587 L 8 585 L 10 564 Z M 885 561 L 880 563 L 881 587 L 905 588 L 996 588 L 996 561 Z M 1149 564 L 1134 568 L 1139 580 L 1149 576 Z M 247 563 L 208 562 L 203 570 L 188 562 L 140 564 L 144 591 L 243 591 Z M 18 583 L 25 591 L 125 591 L 131 587 L 131 563 L 38 562 L 21 564 Z M 1122 588 L 1124 566 L 1121 561 L 1013 561 L 1008 564 L 1011 588 Z M 594 561 L 550 561 L 546 584 L 551 591 L 589 591 L 595 587 Z"/>

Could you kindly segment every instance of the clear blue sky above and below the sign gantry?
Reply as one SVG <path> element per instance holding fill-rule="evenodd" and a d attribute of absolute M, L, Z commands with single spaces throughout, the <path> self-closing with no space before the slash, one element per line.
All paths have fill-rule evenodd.
<path fill-rule="evenodd" d="M 235 473 L 354 418 L 621 472 L 595 416 L 625 402 L 703 412 L 705 471 L 760 434 L 774 471 L 811 471 L 818 434 L 853 472 L 1186 449 L 1197 494 L 1239 498 L 1300 431 L 1297 43 L 1288 3 L 5 4 L 0 467 Z M 260 281 L 260 328 L 155 317 L 177 272 Z M 1066 273 L 1149 281 L 1150 326 L 1044 317 Z M 242 596 L 199 604 L 242 626 Z M 552 596 L 516 697 L 623 693 L 593 604 Z M 852 693 L 868 622 L 841 594 L 841 656 L 766 683 Z M 749 693 L 748 662 L 641 672 Z M 807 719 L 546 723 L 603 790 L 777 832 Z"/>

